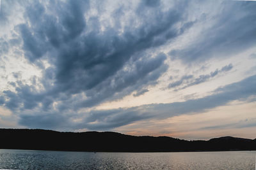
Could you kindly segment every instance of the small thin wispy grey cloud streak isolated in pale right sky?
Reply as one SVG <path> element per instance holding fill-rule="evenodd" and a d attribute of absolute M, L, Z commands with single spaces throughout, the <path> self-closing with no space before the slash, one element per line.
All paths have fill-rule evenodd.
<path fill-rule="evenodd" d="M 192 79 L 193 75 L 185 75 L 180 78 L 178 81 L 174 81 L 173 83 L 170 83 L 168 85 L 169 88 L 179 87 L 180 85 L 184 85 L 180 89 L 186 89 L 187 87 L 191 87 L 193 85 L 198 85 L 200 83 L 204 83 L 205 81 L 208 81 L 209 79 L 213 78 L 214 76 L 217 76 L 220 73 L 225 73 L 227 71 L 230 71 L 233 68 L 232 64 L 228 64 L 227 66 L 222 67 L 220 70 L 216 69 L 215 71 L 211 72 L 210 74 L 202 74 L 198 76 L 198 78 Z M 176 89 L 176 90 L 180 90 Z"/>

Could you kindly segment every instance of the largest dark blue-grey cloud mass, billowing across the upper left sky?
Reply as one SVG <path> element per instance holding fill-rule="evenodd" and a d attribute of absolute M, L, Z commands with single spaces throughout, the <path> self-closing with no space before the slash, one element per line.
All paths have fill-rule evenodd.
<path fill-rule="evenodd" d="M 164 53 L 152 54 L 154 48 L 182 34 L 191 22 L 185 20 L 186 3 L 163 11 L 160 2 L 143 1 L 139 8 L 140 13 L 129 11 L 138 17 L 129 19 L 124 28 L 116 26 L 122 20 L 113 17 L 115 25 L 102 31 L 101 16 L 90 17 L 89 1 L 27 3 L 26 23 L 16 28 L 24 56 L 43 69 L 43 77 L 31 79 L 32 85 L 17 84 L 16 92 L 6 96 L 6 106 L 12 110 L 42 106 L 47 110 L 58 101 L 56 108 L 61 111 L 78 110 L 156 85 L 168 66 Z M 120 18 L 125 14 L 118 9 L 115 13 Z M 141 25 L 133 27 L 136 20 Z M 44 69 L 42 60 L 51 66 Z M 36 90 L 36 82 L 43 91 Z"/>

